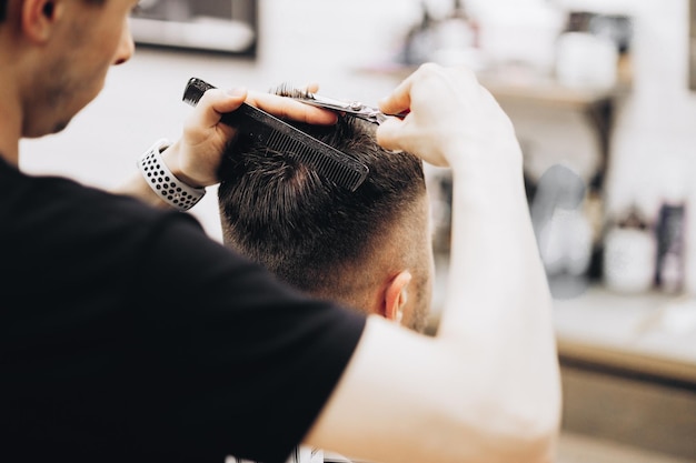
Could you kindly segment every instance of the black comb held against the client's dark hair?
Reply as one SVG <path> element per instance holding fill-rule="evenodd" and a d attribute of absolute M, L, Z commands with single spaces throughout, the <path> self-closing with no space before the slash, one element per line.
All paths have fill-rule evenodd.
<path fill-rule="evenodd" d="M 183 101 L 195 107 L 206 90 L 213 88 L 203 80 L 191 78 L 183 91 Z M 369 173 L 367 165 L 350 155 L 250 104 L 242 103 L 236 111 L 222 114 L 220 120 L 272 150 L 310 165 L 350 191 L 356 191 Z"/>

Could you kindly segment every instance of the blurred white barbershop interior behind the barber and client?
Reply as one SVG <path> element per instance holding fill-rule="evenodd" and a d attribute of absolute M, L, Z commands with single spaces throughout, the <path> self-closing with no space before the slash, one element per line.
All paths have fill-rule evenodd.
<path fill-rule="evenodd" d="M 524 154 L 561 366 L 556 461 L 696 462 L 696 0 L 142 0 L 130 21 L 131 61 L 63 132 L 22 140 L 26 171 L 116 187 L 179 138 L 193 77 L 376 104 L 421 63 L 467 66 Z M 451 178 L 427 165 L 426 182 L 435 333 Z M 221 239 L 216 194 L 189 213 Z"/>

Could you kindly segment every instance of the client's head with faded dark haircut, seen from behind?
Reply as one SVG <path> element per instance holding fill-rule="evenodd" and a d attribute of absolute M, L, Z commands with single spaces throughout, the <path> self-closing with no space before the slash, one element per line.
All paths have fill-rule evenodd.
<path fill-rule="evenodd" d="M 432 253 L 420 160 L 386 152 L 350 117 L 294 124 L 367 164 L 367 180 L 350 192 L 240 137 L 220 172 L 225 243 L 305 292 L 424 330 Z"/>

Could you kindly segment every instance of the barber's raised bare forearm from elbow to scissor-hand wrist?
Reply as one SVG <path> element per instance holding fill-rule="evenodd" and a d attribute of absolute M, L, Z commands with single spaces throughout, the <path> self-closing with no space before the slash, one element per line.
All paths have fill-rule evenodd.
<path fill-rule="evenodd" d="M 475 172 L 453 172 L 456 238 L 438 339 L 461 353 L 461 381 L 499 414 L 491 416 L 491 433 L 545 445 L 560 414 L 551 298 L 528 214 L 521 155 L 517 168 L 497 167 L 495 160 L 505 157 L 491 155 L 495 150 L 515 153 L 519 147 L 511 137 L 491 143 L 491 165 L 484 161 Z"/>

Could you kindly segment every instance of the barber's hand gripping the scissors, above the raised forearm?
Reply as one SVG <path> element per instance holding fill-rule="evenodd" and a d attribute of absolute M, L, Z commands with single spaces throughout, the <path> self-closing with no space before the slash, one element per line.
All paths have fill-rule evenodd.
<path fill-rule="evenodd" d="M 410 110 L 404 120 L 389 118 L 377 129 L 377 141 L 385 149 L 464 169 L 490 155 L 521 162 L 510 120 L 465 68 L 424 64 L 379 105 L 385 113 Z"/>

